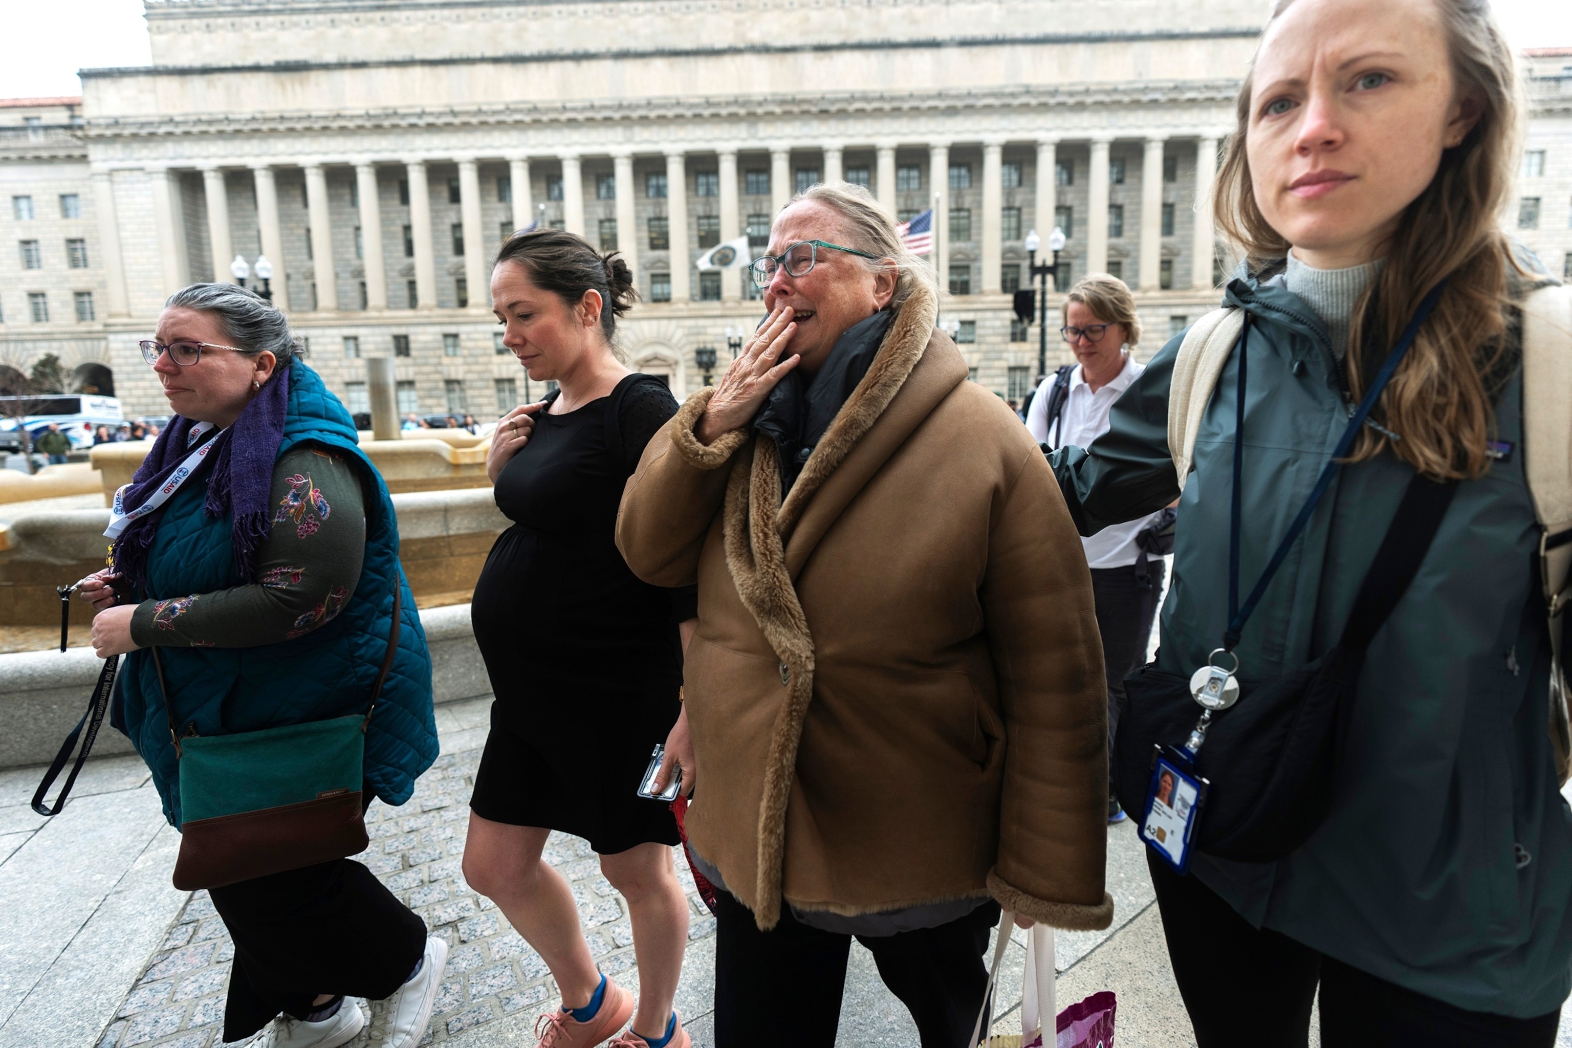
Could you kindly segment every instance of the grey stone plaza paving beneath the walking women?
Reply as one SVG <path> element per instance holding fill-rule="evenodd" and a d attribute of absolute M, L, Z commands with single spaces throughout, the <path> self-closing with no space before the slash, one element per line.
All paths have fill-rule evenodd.
<path fill-rule="evenodd" d="M 371 806 L 371 848 L 358 859 L 450 946 L 421 1043 L 530 1048 L 536 1017 L 556 1006 L 555 985 L 461 870 L 487 713 L 489 699 L 439 707 L 442 756 L 407 804 Z M 146 768 L 135 757 L 90 762 L 72 803 L 47 822 L 27 806 L 38 773 L 0 771 L 0 1048 L 223 1045 L 234 947 L 206 892 L 170 886 L 179 836 L 163 825 Z M 637 988 L 626 907 L 588 845 L 553 834 L 545 858 L 572 885 L 601 969 Z M 715 925 L 681 859 L 678 870 L 693 911 L 678 1010 L 693 1043 L 711 1048 Z M 1115 927 L 1056 936 L 1060 1007 L 1111 988 L 1121 1045 L 1193 1046 L 1129 822 L 1108 834 L 1108 891 Z M 1017 933 L 1006 954 L 997 1032 L 1019 1023 L 1022 941 Z M 838 1048 L 916 1043 L 905 1009 L 879 982 L 872 957 L 854 944 Z M 1572 1048 L 1566 1026 L 1559 1045 Z"/>

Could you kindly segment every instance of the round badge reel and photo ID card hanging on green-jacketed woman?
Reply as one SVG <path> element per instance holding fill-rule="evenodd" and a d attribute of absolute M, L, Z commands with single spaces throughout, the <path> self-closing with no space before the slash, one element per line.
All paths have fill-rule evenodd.
<path fill-rule="evenodd" d="M 1195 757 L 1206 743 L 1212 715 L 1239 701 L 1237 672 L 1237 655 L 1225 647 L 1214 650 L 1207 665 L 1190 676 L 1190 698 L 1201 707 L 1201 720 L 1182 746 L 1155 746 L 1152 753 L 1152 781 L 1146 793 L 1146 814 L 1141 817 L 1141 839 L 1181 874 L 1190 869 L 1190 845 L 1210 787 L 1210 782 L 1196 775 Z"/>

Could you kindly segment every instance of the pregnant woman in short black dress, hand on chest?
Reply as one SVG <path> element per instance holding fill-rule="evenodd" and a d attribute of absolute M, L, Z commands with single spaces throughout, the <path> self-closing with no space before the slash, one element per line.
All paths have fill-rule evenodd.
<path fill-rule="evenodd" d="M 475 778 L 464 877 L 501 908 L 556 979 L 544 1048 L 689 1048 L 671 1010 L 687 943 L 670 808 L 637 795 L 681 710 L 679 624 L 692 591 L 641 583 L 613 542 L 623 486 L 676 413 L 665 385 L 616 357 L 632 273 L 558 229 L 517 233 L 492 273 L 503 344 L 558 390 L 508 412 L 487 473 L 514 522 L 475 588 L 475 639 L 490 674 L 490 737 Z M 528 669 L 527 669 L 528 666 Z M 602 976 L 567 881 L 541 861 L 552 830 L 590 841 L 627 899 L 640 999 Z"/>

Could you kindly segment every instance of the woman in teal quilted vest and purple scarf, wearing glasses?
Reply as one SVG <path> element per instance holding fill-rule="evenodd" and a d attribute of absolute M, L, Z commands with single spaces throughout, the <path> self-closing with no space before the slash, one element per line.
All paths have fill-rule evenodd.
<path fill-rule="evenodd" d="M 112 723 L 148 762 L 165 815 L 181 825 L 171 724 L 223 735 L 366 710 L 398 608 L 363 797 L 402 804 L 437 757 L 431 657 L 393 501 L 349 413 L 297 358 L 283 314 L 233 284 L 178 291 L 141 352 L 174 418 L 116 493 L 113 567 L 82 595 L 97 654 L 129 654 Z M 366 1024 L 349 998 L 374 1001 L 371 1045 L 412 1048 L 426 1032 L 446 947 L 363 864 L 211 897 L 234 940 L 226 1042 L 261 1029 L 252 1043 L 266 1048 L 347 1043 Z"/>

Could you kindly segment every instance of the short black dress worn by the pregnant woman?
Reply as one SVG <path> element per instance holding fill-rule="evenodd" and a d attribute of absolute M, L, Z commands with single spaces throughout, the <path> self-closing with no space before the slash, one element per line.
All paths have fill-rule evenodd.
<path fill-rule="evenodd" d="M 514 525 L 472 605 L 497 696 L 470 800 L 481 819 L 561 830 L 602 855 L 678 842 L 670 806 L 637 790 L 681 712 L 678 622 L 696 614 L 695 591 L 640 581 L 615 544 L 623 486 L 676 410 L 659 379 L 629 376 L 578 410 L 536 413 L 497 476 Z"/>

